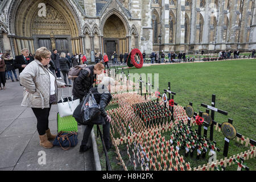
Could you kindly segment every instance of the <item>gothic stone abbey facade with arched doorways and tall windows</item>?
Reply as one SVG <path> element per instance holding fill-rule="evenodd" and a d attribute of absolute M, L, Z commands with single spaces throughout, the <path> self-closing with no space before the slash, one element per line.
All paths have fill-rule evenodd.
<path fill-rule="evenodd" d="M 88 59 L 133 48 L 250 51 L 255 7 L 255 0 L 1 0 L 0 49 L 15 56 L 45 46 Z"/>

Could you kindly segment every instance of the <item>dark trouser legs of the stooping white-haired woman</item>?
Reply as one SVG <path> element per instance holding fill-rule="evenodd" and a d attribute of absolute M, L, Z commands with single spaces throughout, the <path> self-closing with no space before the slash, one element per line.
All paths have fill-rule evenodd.
<path fill-rule="evenodd" d="M 110 123 L 106 122 L 105 120 L 105 125 L 102 125 L 103 127 L 103 139 L 104 139 L 104 143 L 106 148 L 110 147 L 110 143 L 109 143 L 109 130 L 110 130 Z M 85 146 L 88 143 L 88 139 L 90 137 L 90 132 L 93 129 L 93 125 L 86 125 L 85 130 L 84 130 L 84 137 L 82 138 L 82 146 Z M 90 146 L 88 146 L 90 147 Z"/>

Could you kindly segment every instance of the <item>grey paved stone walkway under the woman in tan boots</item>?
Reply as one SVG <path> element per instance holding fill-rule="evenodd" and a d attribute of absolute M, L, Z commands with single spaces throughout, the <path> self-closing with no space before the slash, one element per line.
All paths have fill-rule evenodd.
<path fill-rule="evenodd" d="M 64 88 L 65 96 L 68 92 L 69 88 Z M 60 94 L 59 89 L 59 97 Z M 0 90 L 0 171 L 96 170 L 93 148 L 84 154 L 79 152 L 82 126 L 79 126 L 79 144 L 76 147 L 67 151 L 60 147 L 41 147 L 35 115 L 31 108 L 20 106 L 22 98 L 23 87 L 19 82 L 7 80 L 6 89 Z M 49 129 L 54 134 L 57 134 L 56 114 L 57 105 L 52 105 Z M 46 164 L 38 163 L 42 157 L 40 151 L 46 153 Z"/>

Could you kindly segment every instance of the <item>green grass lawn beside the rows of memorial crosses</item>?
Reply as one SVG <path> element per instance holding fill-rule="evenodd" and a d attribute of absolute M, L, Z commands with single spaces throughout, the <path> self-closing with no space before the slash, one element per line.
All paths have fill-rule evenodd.
<path fill-rule="evenodd" d="M 127 69 L 125 72 L 127 73 Z M 214 120 L 222 123 L 231 118 L 238 133 L 250 139 L 256 139 L 256 60 L 163 64 L 141 69 L 130 68 L 129 72 L 159 73 L 159 92 L 163 93 L 163 89 L 168 88 L 168 81 L 170 81 L 171 90 L 176 92 L 175 102 L 183 106 L 193 102 L 193 108 L 197 113 L 205 111 L 205 107 L 202 107 L 201 103 L 210 105 L 212 94 L 216 94 L 216 107 L 228 111 L 228 115 L 216 113 Z M 222 155 L 224 135 L 214 130 L 214 140 L 221 149 L 217 159 L 222 159 L 224 158 Z M 246 150 L 234 139 L 230 141 L 228 156 Z M 113 153 L 111 150 L 110 152 Z M 193 167 L 207 163 L 207 160 L 195 162 L 189 159 L 188 161 L 194 164 L 191 165 Z M 256 159 L 246 160 L 250 170 L 256 170 L 255 162 Z M 235 168 L 229 167 L 229 169 L 234 170 Z"/>

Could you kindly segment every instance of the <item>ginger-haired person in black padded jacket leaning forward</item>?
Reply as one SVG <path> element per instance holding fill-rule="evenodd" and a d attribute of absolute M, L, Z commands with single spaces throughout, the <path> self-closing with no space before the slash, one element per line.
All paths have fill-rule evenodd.
<path fill-rule="evenodd" d="M 93 87 L 93 83 L 96 82 L 96 75 L 100 75 L 104 71 L 104 65 L 101 63 L 86 68 L 89 68 L 90 72 L 82 69 L 73 82 L 74 100 L 79 98 L 82 101 L 84 96 L 89 93 L 90 88 Z"/>

